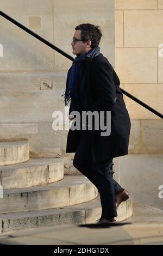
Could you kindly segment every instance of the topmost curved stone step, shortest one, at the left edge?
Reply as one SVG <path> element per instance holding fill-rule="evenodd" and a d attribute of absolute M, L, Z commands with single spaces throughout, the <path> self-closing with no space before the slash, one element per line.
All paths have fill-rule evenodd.
<path fill-rule="evenodd" d="M 0 142 L 0 166 L 29 160 L 29 142 Z"/>

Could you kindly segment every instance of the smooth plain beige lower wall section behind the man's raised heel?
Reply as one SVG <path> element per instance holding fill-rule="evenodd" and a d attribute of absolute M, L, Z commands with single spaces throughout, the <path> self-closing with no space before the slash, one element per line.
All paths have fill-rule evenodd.
<path fill-rule="evenodd" d="M 156 122 L 156 121 L 155 121 Z M 162 209 L 162 154 L 131 154 L 120 161 L 121 186 L 130 191 L 133 201 Z"/>

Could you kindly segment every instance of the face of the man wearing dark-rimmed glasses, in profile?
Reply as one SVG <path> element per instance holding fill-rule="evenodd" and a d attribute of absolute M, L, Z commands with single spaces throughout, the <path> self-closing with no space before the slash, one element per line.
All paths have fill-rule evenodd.
<path fill-rule="evenodd" d="M 76 30 L 76 32 L 73 35 L 74 39 L 81 39 L 81 32 L 80 30 Z M 76 55 L 82 55 L 85 52 L 88 52 L 91 50 L 91 41 L 76 41 L 75 43 L 72 41 L 71 42 L 72 45 L 72 53 L 76 54 Z"/>

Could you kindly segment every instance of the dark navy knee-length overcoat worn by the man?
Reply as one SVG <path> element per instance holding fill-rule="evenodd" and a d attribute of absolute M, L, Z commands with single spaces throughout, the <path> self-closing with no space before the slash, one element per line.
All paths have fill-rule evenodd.
<path fill-rule="evenodd" d="M 130 118 L 120 89 L 120 80 L 102 53 L 82 62 L 82 83 L 87 100 L 87 111 L 111 111 L 111 133 L 101 136 L 101 130 L 92 131 L 92 157 L 103 161 L 128 154 Z M 71 104 L 70 104 L 71 112 Z M 76 152 L 81 131 L 69 130 L 66 153 Z"/>

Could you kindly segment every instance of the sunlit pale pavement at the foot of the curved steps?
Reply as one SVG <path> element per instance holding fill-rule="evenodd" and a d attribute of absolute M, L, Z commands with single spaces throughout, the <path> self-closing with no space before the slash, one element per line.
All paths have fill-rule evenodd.
<path fill-rule="evenodd" d="M 134 204 L 133 212 L 129 220 L 115 225 L 70 224 L 8 231 L 0 235 L 0 244 L 55 245 L 60 252 L 60 245 L 134 245 L 134 250 L 138 245 L 163 245 L 163 211 L 138 203 Z"/>

